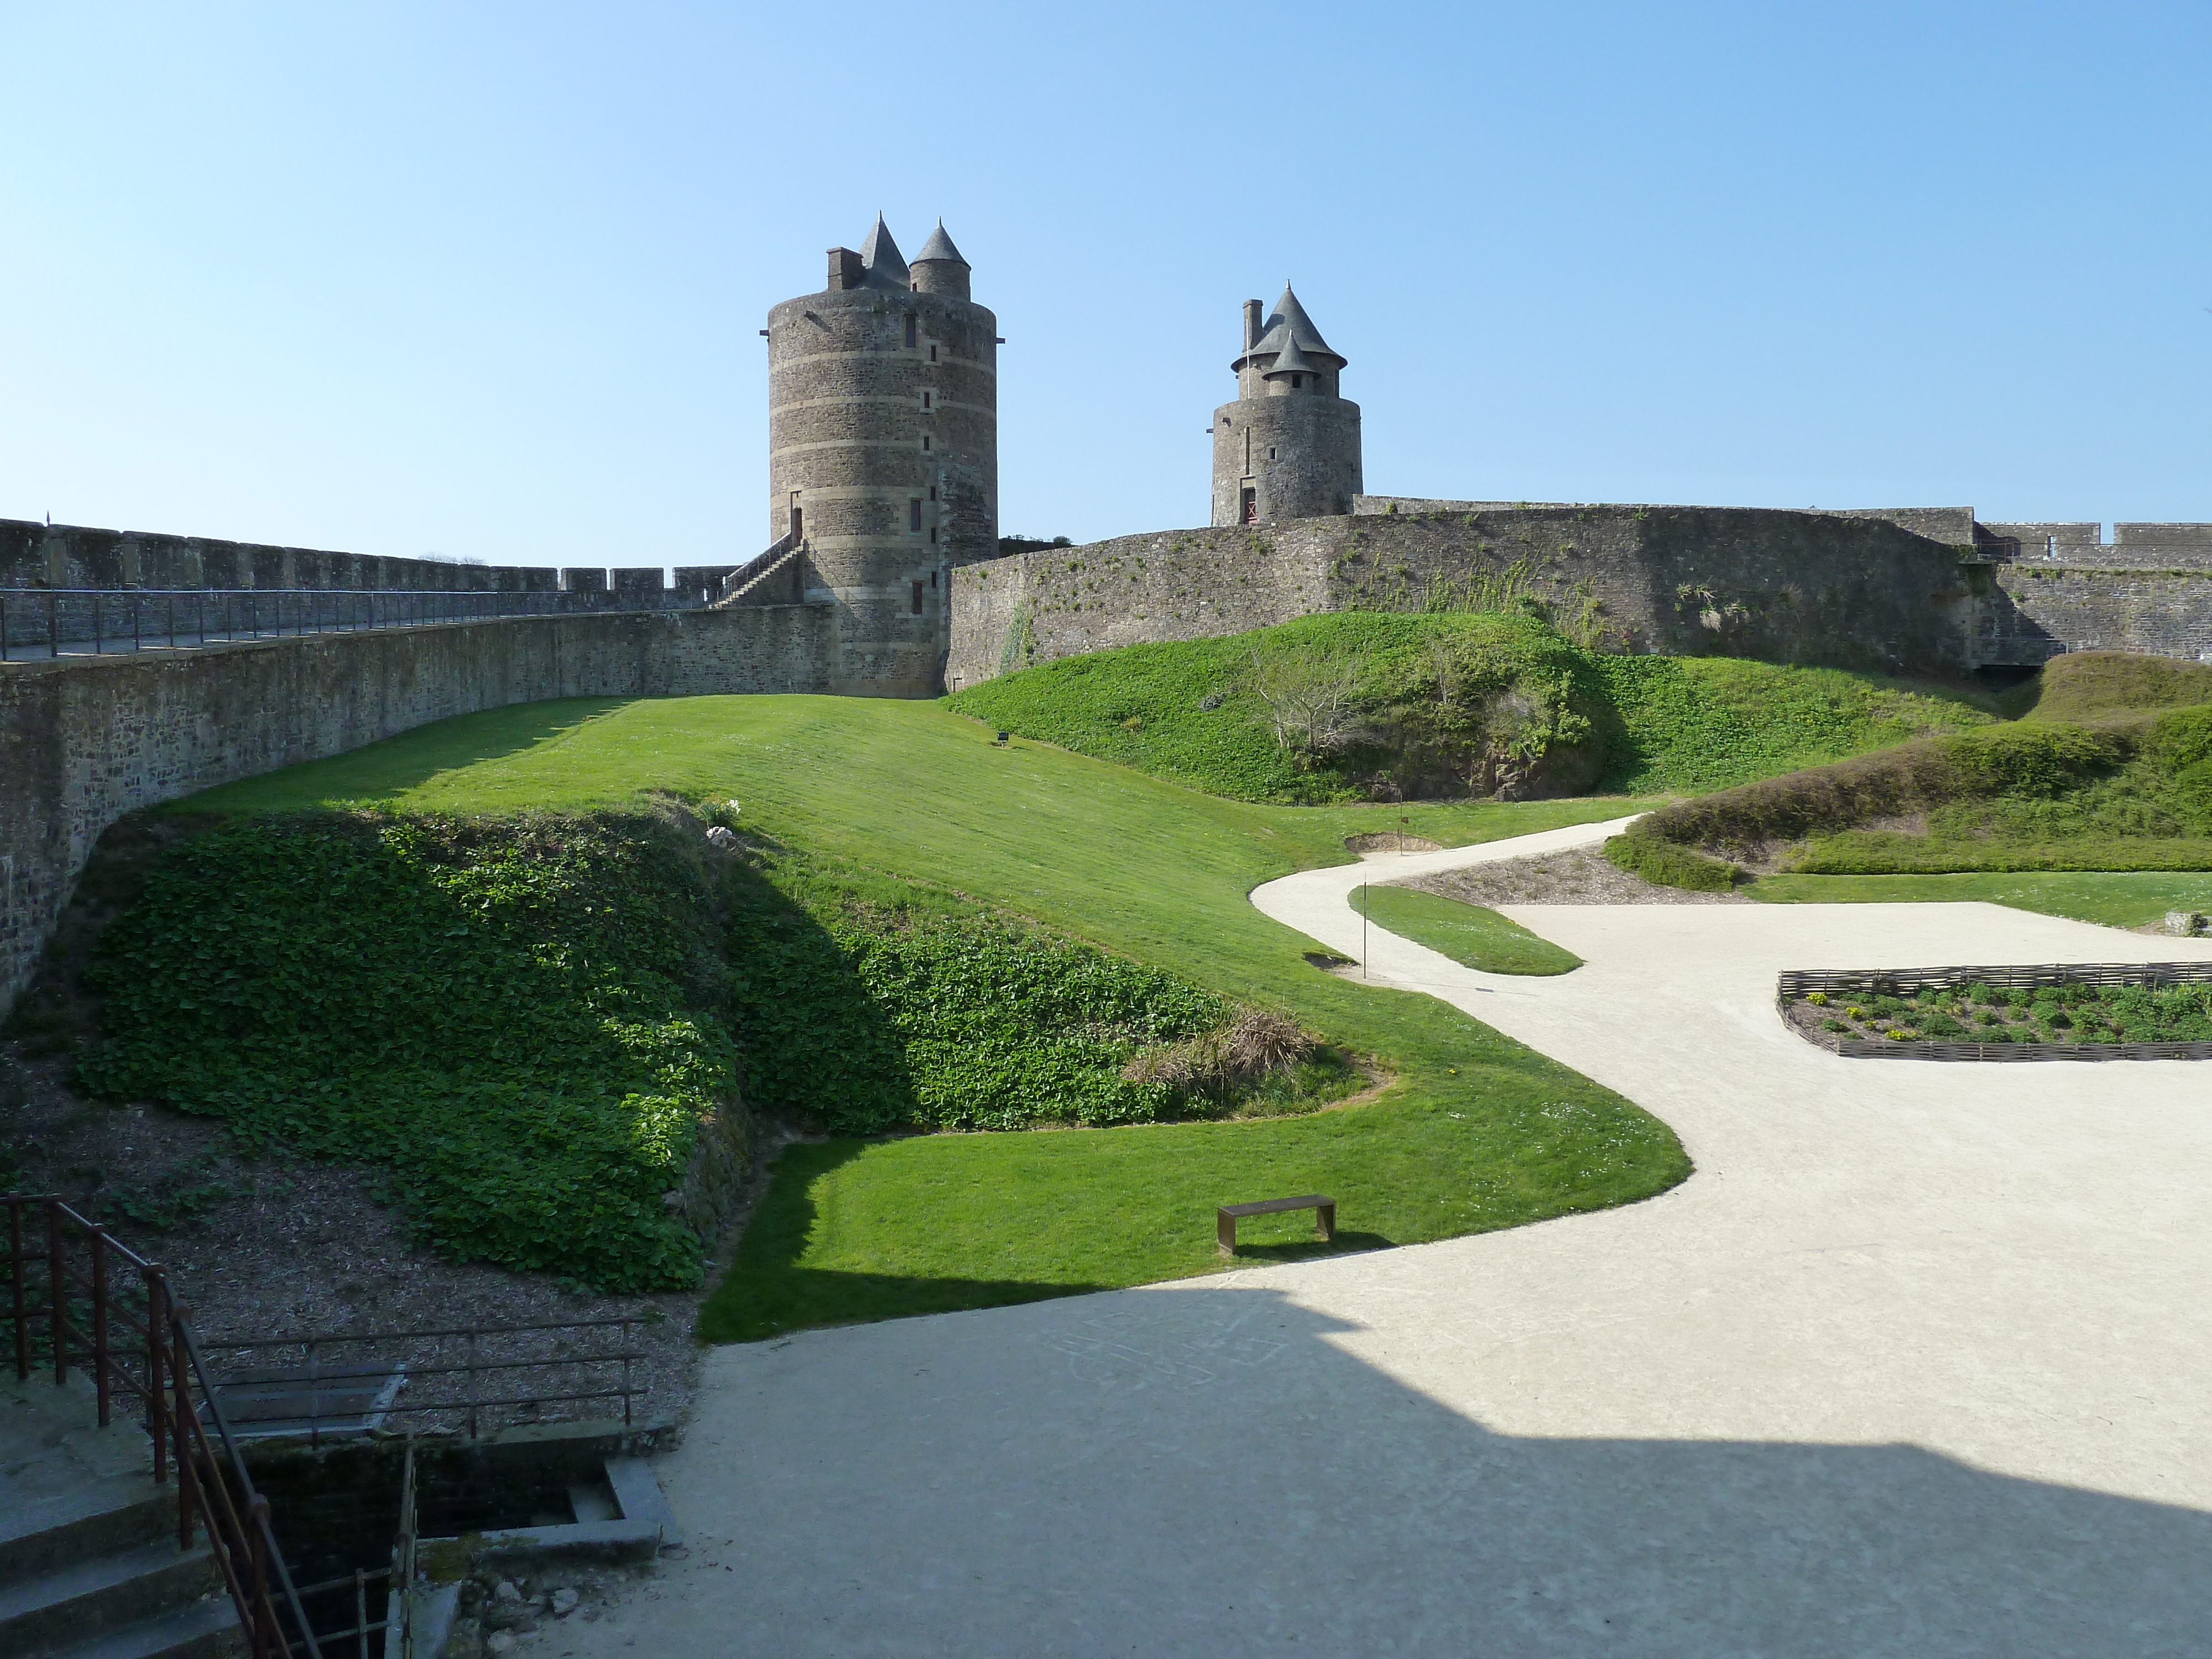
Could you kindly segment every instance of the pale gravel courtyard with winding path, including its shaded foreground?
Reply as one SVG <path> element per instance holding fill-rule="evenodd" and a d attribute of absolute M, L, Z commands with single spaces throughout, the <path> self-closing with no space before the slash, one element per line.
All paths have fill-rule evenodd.
<path fill-rule="evenodd" d="M 1358 956 L 1378 874 L 1254 902 Z M 1586 967 L 1376 931 L 1369 971 L 1641 1102 L 1688 1183 L 719 1349 L 661 1464 L 690 1559 L 551 1650 L 2212 1650 L 2212 1068 L 1847 1062 L 1772 1006 L 1783 967 L 2208 947 L 1989 905 L 1509 914 Z"/>

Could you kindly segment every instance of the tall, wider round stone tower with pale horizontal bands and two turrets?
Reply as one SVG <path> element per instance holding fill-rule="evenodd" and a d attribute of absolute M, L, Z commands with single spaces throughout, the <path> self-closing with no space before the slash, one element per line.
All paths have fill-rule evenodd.
<path fill-rule="evenodd" d="M 832 690 L 942 690 L 951 566 L 998 555 L 998 319 L 942 223 L 907 265 L 878 215 L 768 314 L 768 524 L 838 606 Z"/>

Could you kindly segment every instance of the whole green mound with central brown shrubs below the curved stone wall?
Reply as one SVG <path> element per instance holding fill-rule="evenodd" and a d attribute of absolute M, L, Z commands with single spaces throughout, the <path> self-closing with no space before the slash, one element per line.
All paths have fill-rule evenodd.
<path fill-rule="evenodd" d="M 1531 615 L 1349 611 L 1124 646 L 949 706 L 1239 801 L 1703 792 L 1986 723 L 1958 690 L 1725 657 L 1615 657 Z M 1285 714 L 1287 712 L 1287 721 Z"/>

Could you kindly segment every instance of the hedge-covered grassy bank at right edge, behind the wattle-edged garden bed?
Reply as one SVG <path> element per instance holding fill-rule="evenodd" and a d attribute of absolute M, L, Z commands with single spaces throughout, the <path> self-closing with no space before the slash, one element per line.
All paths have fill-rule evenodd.
<path fill-rule="evenodd" d="M 2059 657 L 2020 701 L 2017 721 L 1663 807 L 1608 854 L 1708 876 L 1701 858 L 1827 876 L 2212 869 L 2212 668 Z"/>

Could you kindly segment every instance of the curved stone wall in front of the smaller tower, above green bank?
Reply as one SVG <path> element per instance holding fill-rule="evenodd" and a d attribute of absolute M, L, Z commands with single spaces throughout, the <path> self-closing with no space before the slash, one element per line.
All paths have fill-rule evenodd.
<path fill-rule="evenodd" d="M 1929 529 L 1971 531 L 1971 513 Z M 1960 549 L 1891 515 L 1467 504 L 1126 535 L 953 571 L 947 686 L 1316 611 L 1517 595 L 1573 637 L 1635 653 L 1958 672 L 1973 630 Z"/>

